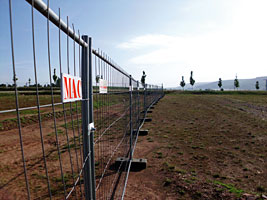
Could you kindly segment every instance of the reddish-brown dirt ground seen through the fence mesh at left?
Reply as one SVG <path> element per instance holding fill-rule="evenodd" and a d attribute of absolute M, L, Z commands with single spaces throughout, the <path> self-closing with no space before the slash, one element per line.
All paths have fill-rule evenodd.
<path fill-rule="evenodd" d="M 126 97 L 128 98 L 129 96 L 127 95 Z M 9 96 L 9 98 L 11 97 Z M 97 129 L 94 133 L 95 175 L 96 186 L 99 185 L 97 187 L 97 199 L 106 199 L 107 191 L 109 193 L 112 192 L 109 187 L 115 185 L 113 180 L 116 180 L 117 174 L 114 170 L 109 170 L 109 166 L 115 162 L 117 157 L 126 154 L 124 152 L 126 149 L 124 145 L 129 142 L 129 135 L 126 135 L 127 137 L 124 136 L 124 127 L 128 122 L 127 113 L 129 111 L 125 110 L 124 104 L 118 104 L 119 101 L 124 102 L 124 97 L 123 95 L 110 95 L 108 98 L 107 96 L 97 97 L 94 103 L 94 122 Z M 30 100 L 32 99 L 34 98 L 31 97 Z M 22 98 L 22 100 L 24 99 Z M 0 110 L 7 109 L 5 106 L 1 104 Z M 29 105 L 22 104 L 22 107 L 25 106 Z M 73 103 L 72 107 L 69 104 L 65 104 L 65 112 L 62 105 L 55 108 L 57 137 L 54 115 L 51 111 L 51 107 L 41 109 L 41 126 L 38 123 L 36 109 L 20 112 L 23 151 L 31 199 L 49 199 L 49 191 L 51 192 L 52 199 L 63 199 L 64 185 L 62 183 L 60 164 L 62 165 L 66 194 L 71 192 L 74 182 L 78 180 L 81 166 L 83 166 L 80 103 L 77 106 L 76 103 Z M 1 114 L 0 125 L 1 123 L 0 200 L 27 199 L 16 113 Z M 110 126 L 111 123 L 113 123 L 113 126 Z M 107 127 L 109 127 L 108 130 Z M 41 132 L 43 147 L 41 145 Z M 56 138 L 58 138 L 59 149 L 57 149 Z M 118 144 L 121 145 L 118 146 Z M 44 148 L 44 152 L 42 148 Z M 116 152 L 113 153 L 115 148 Z M 46 159 L 46 167 L 44 166 L 43 154 Z M 59 159 L 59 155 L 61 159 Z M 47 168 L 47 172 L 45 168 Z M 105 176 L 102 179 L 104 170 Z M 49 176 L 49 180 L 46 173 Z M 81 199 L 83 195 L 84 184 L 82 175 L 69 199 Z"/>

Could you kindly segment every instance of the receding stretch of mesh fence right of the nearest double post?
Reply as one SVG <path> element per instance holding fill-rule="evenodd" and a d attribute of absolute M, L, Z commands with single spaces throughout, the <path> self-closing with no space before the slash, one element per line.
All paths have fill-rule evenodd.
<path fill-rule="evenodd" d="M 140 89 L 139 82 L 102 51 L 93 54 L 96 199 L 121 199 L 141 120 L 163 93 L 152 85 Z"/>

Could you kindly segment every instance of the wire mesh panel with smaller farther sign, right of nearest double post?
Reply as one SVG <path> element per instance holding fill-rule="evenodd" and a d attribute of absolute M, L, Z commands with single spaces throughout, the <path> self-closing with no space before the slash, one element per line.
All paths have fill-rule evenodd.
<path fill-rule="evenodd" d="M 93 61 L 96 198 L 110 199 L 124 186 L 123 167 L 116 168 L 115 160 L 129 155 L 129 76 L 100 51 Z"/>

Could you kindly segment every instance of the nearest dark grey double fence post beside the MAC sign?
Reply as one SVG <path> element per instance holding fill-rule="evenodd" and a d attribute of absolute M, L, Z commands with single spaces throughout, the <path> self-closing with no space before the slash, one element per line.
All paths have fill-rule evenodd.
<path fill-rule="evenodd" d="M 88 36 L 83 35 L 82 39 L 89 44 Z M 90 154 L 90 124 L 89 124 L 89 47 L 82 47 L 82 133 L 83 133 L 83 161 L 85 163 L 84 173 L 84 190 L 86 200 L 92 199 L 91 184 L 91 159 Z"/>

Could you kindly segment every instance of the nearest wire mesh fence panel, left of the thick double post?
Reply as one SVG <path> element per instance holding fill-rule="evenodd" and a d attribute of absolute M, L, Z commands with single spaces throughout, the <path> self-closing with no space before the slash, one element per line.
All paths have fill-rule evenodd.
<path fill-rule="evenodd" d="M 81 101 L 62 103 L 60 90 L 61 73 L 76 77 L 81 74 L 81 44 L 69 35 L 76 33 L 79 37 L 79 33 L 74 25 L 64 33 L 51 23 L 50 12 L 42 13 L 44 18 L 35 6 L 32 1 L 28 10 L 31 35 L 30 42 L 24 45 L 31 49 L 32 60 L 25 69 L 29 82 L 23 86 L 17 81 L 25 79 L 25 75 L 18 70 L 16 57 L 21 57 L 23 49 L 15 48 L 19 35 L 13 31 L 13 17 L 20 19 L 13 14 L 9 1 L 13 85 L 6 87 L 7 95 L 1 92 L 0 195 L 17 199 L 82 199 Z M 49 10 L 49 1 L 45 10 Z M 58 15 L 58 21 L 62 20 L 60 10 Z M 36 18 L 42 20 L 42 34 L 35 34 Z M 67 19 L 69 27 L 68 23 Z"/>

